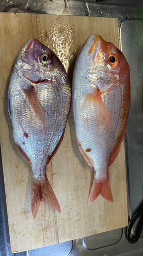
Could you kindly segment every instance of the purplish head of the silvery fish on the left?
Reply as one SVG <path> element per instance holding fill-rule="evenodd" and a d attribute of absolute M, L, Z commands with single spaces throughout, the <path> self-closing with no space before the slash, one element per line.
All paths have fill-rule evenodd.
<path fill-rule="evenodd" d="M 63 65 L 48 47 L 38 39 L 31 38 L 18 55 L 16 68 L 28 80 L 39 83 L 43 80 L 51 81 Z"/>

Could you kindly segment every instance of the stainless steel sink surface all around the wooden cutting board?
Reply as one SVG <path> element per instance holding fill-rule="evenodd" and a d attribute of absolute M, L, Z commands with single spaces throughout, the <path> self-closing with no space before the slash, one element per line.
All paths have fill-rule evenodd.
<path fill-rule="evenodd" d="M 66 8 L 65 8 L 66 3 Z M 131 73 L 131 107 L 126 132 L 126 164 L 128 181 L 129 218 L 143 199 L 143 1 L 105 0 L 84 2 L 77 0 L 0 0 L 0 11 L 38 12 L 99 17 L 116 17 L 120 27 L 120 44 Z M 1 160 L 1 159 L 0 159 Z M 9 242 L 8 221 L 2 160 L 0 161 L 0 256 L 12 255 Z M 51 245 L 15 255 L 142 255 L 142 238 L 136 244 L 126 239 L 126 228 L 95 234 L 61 244 Z"/>

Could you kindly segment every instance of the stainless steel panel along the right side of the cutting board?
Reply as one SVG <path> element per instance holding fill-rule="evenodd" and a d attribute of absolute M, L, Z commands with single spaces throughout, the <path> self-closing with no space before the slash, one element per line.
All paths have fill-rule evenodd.
<path fill-rule="evenodd" d="M 131 74 L 131 106 L 126 132 L 128 206 L 131 215 L 143 199 L 143 20 L 124 20 L 120 32 L 121 49 Z"/>

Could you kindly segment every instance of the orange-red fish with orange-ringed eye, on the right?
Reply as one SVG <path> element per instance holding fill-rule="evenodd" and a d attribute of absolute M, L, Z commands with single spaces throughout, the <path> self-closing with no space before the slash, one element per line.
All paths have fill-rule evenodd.
<path fill-rule="evenodd" d="M 130 70 L 123 53 L 90 35 L 73 72 L 72 108 L 78 148 L 94 167 L 89 204 L 101 195 L 113 202 L 108 166 L 120 152 L 130 108 Z"/>

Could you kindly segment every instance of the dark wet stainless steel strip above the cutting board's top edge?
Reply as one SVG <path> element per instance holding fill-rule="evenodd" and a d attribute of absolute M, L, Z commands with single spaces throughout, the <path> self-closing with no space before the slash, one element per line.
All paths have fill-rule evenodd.
<path fill-rule="evenodd" d="M 0 11 L 115 17 L 120 24 L 125 18 L 143 18 L 143 1 L 0 0 Z"/>

